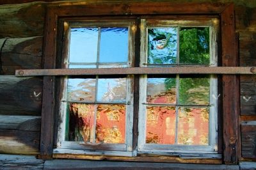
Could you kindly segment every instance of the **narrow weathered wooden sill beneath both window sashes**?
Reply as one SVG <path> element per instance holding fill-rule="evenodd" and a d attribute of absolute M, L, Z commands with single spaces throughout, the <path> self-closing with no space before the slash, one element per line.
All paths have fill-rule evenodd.
<path fill-rule="evenodd" d="M 119 155 L 119 156 L 117 156 Z M 121 156 L 120 156 L 121 155 Z M 172 153 L 172 155 L 157 154 L 138 154 L 128 151 L 86 151 L 54 149 L 52 158 L 72 158 L 88 160 L 116 160 L 129 162 L 173 162 L 173 163 L 192 163 L 192 164 L 222 164 L 221 154 L 191 154 L 191 153 Z"/>

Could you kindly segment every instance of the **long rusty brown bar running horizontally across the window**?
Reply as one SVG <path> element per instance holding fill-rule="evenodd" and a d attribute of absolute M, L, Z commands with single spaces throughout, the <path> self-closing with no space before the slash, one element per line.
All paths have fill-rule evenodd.
<path fill-rule="evenodd" d="M 131 68 L 70 68 L 16 70 L 15 75 L 127 75 L 127 74 L 255 74 L 256 67 L 246 66 L 173 66 Z"/>

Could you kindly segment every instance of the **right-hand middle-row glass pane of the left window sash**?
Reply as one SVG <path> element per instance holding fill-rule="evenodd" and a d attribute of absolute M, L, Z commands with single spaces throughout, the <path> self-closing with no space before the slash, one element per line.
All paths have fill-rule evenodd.
<path fill-rule="evenodd" d="M 126 101 L 126 78 L 99 79 L 97 89 L 98 102 Z"/>

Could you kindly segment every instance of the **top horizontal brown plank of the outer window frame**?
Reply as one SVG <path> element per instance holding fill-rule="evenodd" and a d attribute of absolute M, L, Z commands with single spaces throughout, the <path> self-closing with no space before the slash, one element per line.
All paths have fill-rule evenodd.
<path fill-rule="evenodd" d="M 61 17 L 92 15 L 152 15 L 152 14 L 205 14 L 221 13 L 227 4 L 221 3 L 174 3 L 174 2 L 132 2 L 59 5 L 54 11 Z M 157 9 L 157 10 L 156 10 Z"/>

